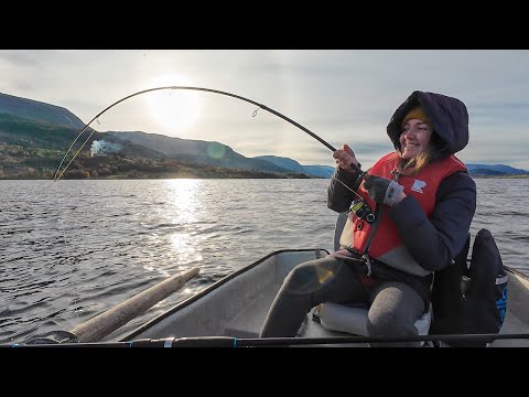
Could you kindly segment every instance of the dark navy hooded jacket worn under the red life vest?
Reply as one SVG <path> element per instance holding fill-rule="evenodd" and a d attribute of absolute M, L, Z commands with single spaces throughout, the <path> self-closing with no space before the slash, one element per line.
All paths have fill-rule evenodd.
<path fill-rule="evenodd" d="M 442 147 L 438 157 L 446 157 L 462 150 L 468 143 L 468 112 L 458 99 L 445 95 L 413 92 L 393 112 L 387 133 L 398 149 L 401 121 L 410 109 L 420 105 L 440 137 Z M 327 206 L 336 212 L 346 212 L 356 197 L 346 185 L 357 189 L 355 174 L 336 168 L 327 190 Z M 355 183 L 356 182 L 356 183 Z M 463 249 L 476 210 L 476 185 L 466 172 L 455 172 L 443 179 L 435 194 L 435 206 L 427 216 L 419 202 L 408 195 L 387 210 L 397 230 L 413 259 L 428 271 L 447 267 Z M 414 288 L 430 304 L 432 275 L 421 277 L 377 262 L 373 275 L 382 279 L 398 280 Z"/>

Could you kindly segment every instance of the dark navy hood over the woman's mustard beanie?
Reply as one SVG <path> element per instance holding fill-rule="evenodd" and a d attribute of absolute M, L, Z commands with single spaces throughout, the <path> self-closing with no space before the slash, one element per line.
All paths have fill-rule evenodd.
<path fill-rule="evenodd" d="M 415 90 L 395 111 L 387 132 L 393 147 L 400 148 L 401 122 L 413 107 L 420 105 L 433 130 L 446 143 L 447 153 L 455 153 L 468 143 L 468 111 L 463 101 L 442 94 Z"/>

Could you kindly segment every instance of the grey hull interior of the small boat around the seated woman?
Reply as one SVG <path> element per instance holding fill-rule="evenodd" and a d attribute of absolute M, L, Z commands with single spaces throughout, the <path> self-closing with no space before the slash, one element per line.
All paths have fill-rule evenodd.
<path fill-rule="evenodd" d="M 298 264 L 324 257 L 325 249 L 279 250 L 210 285 L 173 309 L 132 331 L 121 341 L 139 339 L 230 336 L 257 339 L 264 316 L 284 277 Z M 529 279 L 507 268 L 509 300 L 500 334 L 520 334 L 529 330 Z M 328 339 L 352 336 L 331 331 L 307 313 L 299 337 Z M 325 343 L 326 346 L 366 346 L 365 343 Z M 489 346 L 525 346 L 528 339 L 496 340 Z"/>

